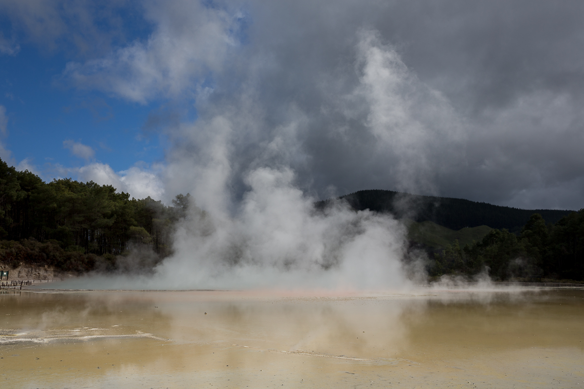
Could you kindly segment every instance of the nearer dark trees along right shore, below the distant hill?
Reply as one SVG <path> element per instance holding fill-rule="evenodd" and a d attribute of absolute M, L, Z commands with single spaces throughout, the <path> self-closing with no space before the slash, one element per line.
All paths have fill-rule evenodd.
<path fill-rule="evenodd" d="M 584 209 L 548 225 L 534 213 L 519 234 L 493 229 L 481 241 L 464 247 L 456 240 L 442 253 L 433 254 L 427 265 L 434 278 L 472 276 L 485 269 L 497 281 L 584 281 Z"/>

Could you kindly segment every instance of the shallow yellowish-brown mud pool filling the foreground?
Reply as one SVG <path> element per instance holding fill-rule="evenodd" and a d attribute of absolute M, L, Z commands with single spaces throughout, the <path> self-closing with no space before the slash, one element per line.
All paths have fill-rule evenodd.
<path fill-rule="evenodd" d="M 576 289 L 5 292 L 0 329 L 8 388 L 584 388 Z"/>

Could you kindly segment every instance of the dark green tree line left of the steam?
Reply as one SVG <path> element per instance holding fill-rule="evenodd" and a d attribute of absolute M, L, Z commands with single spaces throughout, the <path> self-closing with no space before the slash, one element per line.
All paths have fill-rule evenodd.
<path fill-rule="evenodd" d="M 132 247 L 151 248 L 164 258 L 171 254 L 176 223 L 186 218 L 189 197 L 179 194 L 166 206 L 92 181 L 45 183 L 0 160 L 0 261 L 84 272 L 114 268 L 116 257 Z"/>

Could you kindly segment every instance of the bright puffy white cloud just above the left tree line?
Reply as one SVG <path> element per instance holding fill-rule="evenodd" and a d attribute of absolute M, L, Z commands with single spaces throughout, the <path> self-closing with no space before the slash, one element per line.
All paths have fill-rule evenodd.
<path fill-rule="evenodd" d="M 112 185 L 118 192 L 126 192 L 135 198 L 150 196 L 153 199 L 164 199 L 164 187 L 155 171 L 142 169 L 138 166 L 128 170 L 114 171 L 109 164 L 92 163 L 78 169 L 70 169 L 76 173 L 79 180 L 93 181 L 99 185 Z"/>

